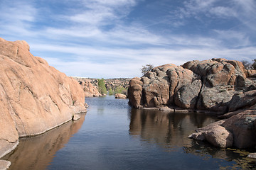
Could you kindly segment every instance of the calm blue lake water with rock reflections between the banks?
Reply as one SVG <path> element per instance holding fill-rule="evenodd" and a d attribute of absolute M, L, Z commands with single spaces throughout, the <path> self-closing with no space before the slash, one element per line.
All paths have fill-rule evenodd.
<path fill-rule="evenodd" d="M 80 120 L 20 140 L 10 169 L 255 169 L 245 150 L 188 139 L 216 119 L 203 113 L 132 109 L 114 96 L 86 98 Z"/>

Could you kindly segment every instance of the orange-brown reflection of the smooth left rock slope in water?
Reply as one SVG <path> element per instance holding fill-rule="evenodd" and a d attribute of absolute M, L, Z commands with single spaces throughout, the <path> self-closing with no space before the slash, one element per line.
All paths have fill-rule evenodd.
<path fill-rule="evenodd" d="M 11 162 L 10 169 L 46 169 L 54 154 L 78 132 L 84 120 L 85 115 L 81 115 L 80 120 L 65 123 L 43 135 L 21 138 L 14 152 L 2 159 Z"/>

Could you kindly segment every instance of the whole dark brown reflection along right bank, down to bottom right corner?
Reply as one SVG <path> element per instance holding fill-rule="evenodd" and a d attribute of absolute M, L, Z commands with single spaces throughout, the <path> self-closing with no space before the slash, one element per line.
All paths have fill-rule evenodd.
<path fill-rule="evenodd" d="M 207 142 L 188 139 L 188 135 L 196 128 L 206 126 L 215 120 L 217 119 L 203 113 L 165 113 L 132 109 L 129 135 L 142 140 L 142 145 L 146 145 L 145 142 L 153 143 L 164 148 L 166 152 L 182 148 L 184 153 L 203 157 L 204 160 L 219 159 L 217 162 L 233 162 L 232 166 L 220 166 L 220 169 L 256 169 L 255 159 L 247 158 L 247 150 L 220 149 Z"/>

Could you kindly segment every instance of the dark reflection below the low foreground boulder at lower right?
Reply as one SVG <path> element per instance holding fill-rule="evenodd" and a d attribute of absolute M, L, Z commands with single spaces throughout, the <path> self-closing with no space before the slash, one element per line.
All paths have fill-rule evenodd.
<path fill-rule="evenodd" d="M 194 154 L 204 159 L 224 159 L 227 162 L 236 163 L 233 166 L 221 167 L 221 169 L 256 169 L 255 159 L 247 158 L 249 152 L 245 150 L 220 149 L 200 140 L 193 140 L 191 147 L 183 147 L 183 150 L 187 154 Z"/>

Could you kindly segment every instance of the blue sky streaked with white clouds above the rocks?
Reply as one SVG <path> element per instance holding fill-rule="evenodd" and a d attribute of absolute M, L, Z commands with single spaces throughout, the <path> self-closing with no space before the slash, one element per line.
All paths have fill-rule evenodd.
<path fill-rule="evenodd" d="M 0 0 L 0 37 L 73 77 L 256 59 L 256 0 Z"/>

